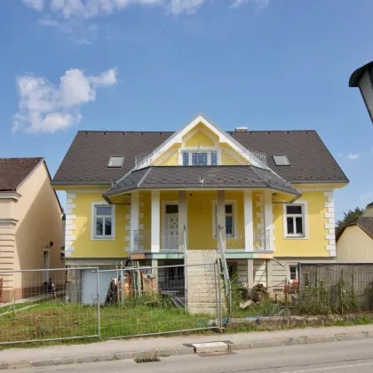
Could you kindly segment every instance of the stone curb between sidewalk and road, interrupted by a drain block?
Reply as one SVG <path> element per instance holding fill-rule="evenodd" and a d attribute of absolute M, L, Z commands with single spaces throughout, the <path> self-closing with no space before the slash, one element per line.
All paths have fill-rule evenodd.
<path fill-rule="evenodd" d="M 241 343 L 227 343 L 228 351 L 253 350 L 257 348 L 271 348 L 288 345 L 314 345 L 329 342 L 343 342 L 355 339 L 373 338 L 372 332 L 361 333 L 337 333 L 329 336 L 319 337 L 293 337 L 293 338 L 274 338 L 264 341 L 250 341 Z M 21 368 L 45 368 L 58 365 L 81 364 L 86 362 L 115 361 L 139 358 L 155 358 L 168 356 L 181 356 L 187 354 L 197 354 L 194 347 L 181 348 L 163 348 L 159 350 L 101 353 L 96 355 L 82 355 L 75 357 L 61 357 L 57 359 L 45 359 L 39 361 L 14 361 L 0 363 L 0 370 L 21 369 Z"/>

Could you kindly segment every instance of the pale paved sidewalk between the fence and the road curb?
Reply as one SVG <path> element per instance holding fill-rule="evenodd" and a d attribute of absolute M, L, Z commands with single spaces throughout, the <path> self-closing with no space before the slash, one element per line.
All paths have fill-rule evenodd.
<path fill-rule="evenodd" d="M 148 337 L 109 340 L 89 345 L 55 345 L 0 351 L 0 369 L 46 367 L 79 362 L 133 359 L 134 357 L 193 354 L 194 343 L 225 342 L 229 350 L 304 345 L 373 338 L 373 325 L 307 328 L 220 335 Z"/>

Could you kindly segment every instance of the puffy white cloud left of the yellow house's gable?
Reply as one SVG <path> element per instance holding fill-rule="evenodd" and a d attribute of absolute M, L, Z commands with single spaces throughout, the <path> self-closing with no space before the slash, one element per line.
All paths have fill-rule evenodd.
<path fill-rule="evenodd" d="M 17 78 L 19 112 L 14 115 L 13 131 L 56 132 L 82 120 L 80 108 L 96 100 L 96 90 L 117 83 L 117 70 L 85 75 L 78 68 L 67 70 L 55 85 L 44 77 L 22 75 Z"/>

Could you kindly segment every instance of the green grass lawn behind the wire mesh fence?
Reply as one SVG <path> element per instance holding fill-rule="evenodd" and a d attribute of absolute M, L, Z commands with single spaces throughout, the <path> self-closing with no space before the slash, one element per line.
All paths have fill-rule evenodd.
<path fill-rule="evenodd" d="M 199 329 L 212 316 L 186 313 L 163 302 L 100 307 L 101 338 L 126 337 L 182 329 Z M 0 342 L 84 337 L 98 334 L 97 306 L 62 304 L 51 300 L 0 316 Z"/>

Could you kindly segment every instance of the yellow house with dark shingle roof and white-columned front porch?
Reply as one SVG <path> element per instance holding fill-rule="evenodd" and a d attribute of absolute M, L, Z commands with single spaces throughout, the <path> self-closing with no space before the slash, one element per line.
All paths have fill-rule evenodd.
<path fill-rule="evenodd" d="M 67 266 L 202 262 L 220 244 L 241 282 L 274 289 L 299 260 L 336 260 L 347 183 L 315 131 L 227 132 L 204 115 L 177 132 L 79 131 L 52 182 Z"/>

